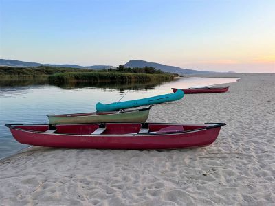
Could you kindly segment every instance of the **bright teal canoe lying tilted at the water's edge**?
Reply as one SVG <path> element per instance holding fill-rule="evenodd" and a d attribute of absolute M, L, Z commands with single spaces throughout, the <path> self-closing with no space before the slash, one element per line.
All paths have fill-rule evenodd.
<path fill-rule="evenodd" d="M 101 104 L 98 102 L 96 104 L 96 111 L 115 111 L 124 108 L 132 108 L 137 106 L 151 105 L 151 104 L 161 104 L 164 102 L 171 102 L 180 100 L 184 97 L 184 91 L 178 89 L 175 93 L 168 93 L 165 95 L 158 95 L 151 98 L 144 98 L 140 100 L 130 100 L 125 102 L 114 102 L 111 104 Z"/>

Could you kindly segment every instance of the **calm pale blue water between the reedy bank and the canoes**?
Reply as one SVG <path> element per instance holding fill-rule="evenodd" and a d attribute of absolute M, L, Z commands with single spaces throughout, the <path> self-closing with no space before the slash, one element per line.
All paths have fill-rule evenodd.
<path fill-rule="evenodd" d="M 0 87 L 0 159 L 28 146 L 19 144 L 5 124 L 47 124 L 47 114 L 95 111 L 97 102 L 111 103 L 173 93 L 171 87 L 186 88 L 236 82 L 237 78 L 181 78 L 148 87 L 111 86 L 61 88 L 48 84 Z"/>

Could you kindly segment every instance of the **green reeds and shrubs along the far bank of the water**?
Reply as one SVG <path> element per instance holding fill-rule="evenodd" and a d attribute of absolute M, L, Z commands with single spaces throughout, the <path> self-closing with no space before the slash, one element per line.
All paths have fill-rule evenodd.
<path fill-rule="evenodd" d="M 76 84 L 79 82 L 163 82 L 173 80 L 176 74 L 165 73 L 153 67 L 126 68 L 122 65 L 116 69 L 76 69 L 67 67 L 0 67 L 0 85 L 14 85 L 13 82 L 30 82 L 38 80 L 50 84 Z"/>

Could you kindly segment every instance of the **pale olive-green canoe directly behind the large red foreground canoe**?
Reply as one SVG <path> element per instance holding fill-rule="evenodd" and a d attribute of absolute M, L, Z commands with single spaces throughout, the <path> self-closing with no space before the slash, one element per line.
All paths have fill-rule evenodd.
<path fill-rule="evenodd" d="M 84 124 L 100 122 L 146 122 L 150 108 L 113 113 L 47 115 L 49 124 Z"/>

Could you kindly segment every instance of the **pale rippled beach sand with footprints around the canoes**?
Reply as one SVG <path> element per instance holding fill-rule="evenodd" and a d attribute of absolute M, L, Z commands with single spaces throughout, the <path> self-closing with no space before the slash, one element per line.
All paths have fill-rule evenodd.
<path fill-rule="evenodd" d="M 228 93 L 186 95 L 154 106 L 148 119 L 227 123 L 211 146 L 33 147 L 0 162 L 0 204 L 274 205 L 275 73 L 237 76 Z"/>

